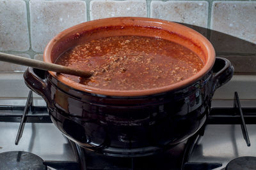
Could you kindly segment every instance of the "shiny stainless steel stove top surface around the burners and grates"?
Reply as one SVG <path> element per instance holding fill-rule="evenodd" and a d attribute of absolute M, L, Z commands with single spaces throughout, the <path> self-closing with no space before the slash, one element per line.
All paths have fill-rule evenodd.
<path fill-rule="evenodd" d="M 34 99 L 34 106 L 45 108 L 45 103 L 42 99 Z M 222 112 L 229 112 L 234 101 L 213 101 L 212 107 L 216 108 L 215 117 L 210 118 L 209 124 L 205 125 L 205 131 L 198 132 L 196 136 L 184 141 L 166 152 L 160 152 L 156 155 L 138 158 L 117 158 L 100 155 L 99 153 L 84 152 L 86 155 L 87 169 L 214 169 L 224 170 L 228 162 L 237 157 L 256 157 L 256 122 L 248 121 L 246 118 L 247 131 L 252 145 L 244 140 L 244 135 L 241 130 L 241 125 L 236 123 L 225 124 L 225 118 L 221 122 L 214 124 Z M 70 141 L 61 134 L 60 131 L 52 124 L 38 123 L 35 117 L 29 116 L 27 123 L 24 126 L 22 138 L 19 144 L 15 145 L 17 131 L 20 126 L 19 118 L 6 118 L 4 115 L 22 114 L 22 109 L 26 104 L 26 99 L 0 99 L 0 154 L 10 151 L 30 152 L 41 157 L 45 164 L 54 164 L 55 166 L 48 169 L 63 169 L 60 165 L 65 166 L 68 163 L 77 161 L 76 152 L 74 152 Z M 10 109 L 9 106 L 15 106 L 15 109 Z M 19 107 L 23 106 L 23 107 Z M 242 108 L 252 108 L 256 111 L 256 102 L 241 101 Z M 18 110 L 16 110 L 19 108 Z M 221 111 L 218 110 L 221 108 Z M 224 110 L 223 110 L 224 108 Z M 227 108 L 227 110 L 225 110 Z M 251 110 L 250 110 L 251 111 Z M 44 112 L 44 111 L 42 111 Z M 214 113 L 215 113 L 214 112 Z M 217 113 L 220 112 L 220 113 Z M 43 113 L 38 113 L 44 115 Z M 228 113 L 229 114 L 229 113 Z M 253 115 L 250 113 L 249 115 Z M 256 112 L 254 113 L 256 116 Z M 248 116 L 248 115 L 245 115 Z M 238 118 L 238 116 L 237 116 Z M 40 119 L 40 118 L 39 118 Z M 252 120 L 252 118 L 250 118 Z M 255 119 L 253 119 L 255 120 Z M 185 154 L 184 154 L 185 153 Z M 58 166 L 56 166 L 58 164 Z M 183 164 L 181 167 L 180 165 Z M 68 167 L 67 166 L 67 167 Z M 53 168 L 54 167 L 54 168 Z M 77 166 L 73 166 L 77 169 Z M 79 169 L 79 168 L 78 168 Z"/>

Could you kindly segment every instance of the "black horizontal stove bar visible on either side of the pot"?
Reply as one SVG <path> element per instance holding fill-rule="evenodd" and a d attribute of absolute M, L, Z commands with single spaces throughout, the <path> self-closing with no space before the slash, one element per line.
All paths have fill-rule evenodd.
<path fill-rule="evenodd" d="M 24 106 L 0 106 L 0 122 L 20 122 Z M 255 124 L 256 108 L 242 108 L 246 124 Z M 46 106 L 34 106 L 33 114 L 26 115 L 27 123 L 52 123 Z M 234 108 L 212 108 L 205 124 L 241 124 L 241 116 Z"/>

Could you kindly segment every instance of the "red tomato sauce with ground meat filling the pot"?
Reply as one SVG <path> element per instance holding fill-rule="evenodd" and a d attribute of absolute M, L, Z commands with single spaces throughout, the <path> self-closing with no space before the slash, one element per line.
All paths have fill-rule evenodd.
<path fill-rule="evenodd" d="M 163 87 L 193 76 L 204 66 L 188 48 L 145 36 L 88 41 L 63 53 L 56 64 L 92 71 L 89 79 L 64 75 L 90 87 L 113 90 Z"/>

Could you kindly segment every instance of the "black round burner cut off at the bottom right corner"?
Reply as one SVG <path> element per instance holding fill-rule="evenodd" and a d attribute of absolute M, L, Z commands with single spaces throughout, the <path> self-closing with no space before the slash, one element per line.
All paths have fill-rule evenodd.
<path fill-rule="evenodd" d="M 256 169 L 256 157 L 238 157 L 231 160 L 226 170 L 254 170 Z"/>

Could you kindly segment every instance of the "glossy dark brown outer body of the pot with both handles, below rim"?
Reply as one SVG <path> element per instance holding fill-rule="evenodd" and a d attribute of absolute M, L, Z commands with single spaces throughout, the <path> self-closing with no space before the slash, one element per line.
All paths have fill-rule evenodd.
<path fill-rule="evenodd" d="M 188 87 L 133 97 L 81 92 L 31 68 L 24 78 L 44 97 L 52 122 L 72 141 L 98 153 L 136 157 L 170 148 L 195 134 L 209 113 L 214 90 L 233 72 L 227 59 L 217 58 L 212 70 Z"/>

